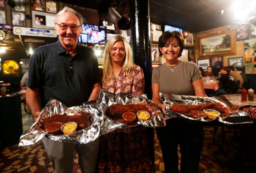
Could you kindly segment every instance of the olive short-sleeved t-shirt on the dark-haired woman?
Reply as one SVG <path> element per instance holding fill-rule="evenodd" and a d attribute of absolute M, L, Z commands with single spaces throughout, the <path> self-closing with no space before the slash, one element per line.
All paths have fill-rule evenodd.
<path fill-rule="evenodd" d="M 174 67 L 170 67 L 174 69 Z M 181 60 L 173 72 L 161 64 L 153 70 L 152 83 L 159 84 L 159 91 L 165 94 L 194 95 L 192 82 L 202 75 L 195 63 Z"/>

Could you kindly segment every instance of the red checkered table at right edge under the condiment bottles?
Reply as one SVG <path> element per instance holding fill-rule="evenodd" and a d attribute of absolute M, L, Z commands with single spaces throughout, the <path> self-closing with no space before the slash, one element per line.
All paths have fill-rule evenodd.
<path fill-rule="evenodd" d="M 246 105 L 256 105 L 256 94 L 254 94 L 254 101 L 248 100 L 248 94 L 247 94 L 247 101 L 242 101 L 241 94 L 225 94 L 224 96 L 227 98 L 227 100 L 230 103 L 232 103 L 232 105 L 237 107 L 237 109 Z M 250 110 L 251 110 L 252 117 L 256 118 L 256 108 L 251 107 Z M 242 111 L 250 113 L 249 108 L 245 108 Z"/>

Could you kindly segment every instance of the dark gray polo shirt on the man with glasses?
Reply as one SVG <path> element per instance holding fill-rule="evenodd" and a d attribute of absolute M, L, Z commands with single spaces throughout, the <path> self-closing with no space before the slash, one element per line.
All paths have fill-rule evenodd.
<path fill-rule="evenodd" d="M 77 45 L 73 57 L 58 40 L 40 46 L 31 55 L 27 86 L 41 89 L 42 107 L 51 99 L 66 106 L 88 101 L 93 85 L 99 83 L 98 60 L 89 47 Z"/>

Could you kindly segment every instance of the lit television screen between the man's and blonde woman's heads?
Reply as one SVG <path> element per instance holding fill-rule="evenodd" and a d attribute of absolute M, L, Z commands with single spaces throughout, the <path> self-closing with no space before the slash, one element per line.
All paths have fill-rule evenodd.
<path fill-rule="evenodd" d="M 107 43 L 107 30 L 104 26 L 82 24 L 83 31 L 80 37 L 78 37 L 79 43 L 95 43 L 106 44 Z"/>

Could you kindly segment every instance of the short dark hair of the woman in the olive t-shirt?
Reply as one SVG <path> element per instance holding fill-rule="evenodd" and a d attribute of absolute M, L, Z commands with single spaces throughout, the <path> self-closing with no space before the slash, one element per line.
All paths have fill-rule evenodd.
<path fill-rule="evenodd" d="M 178 40 L 179 43 L 179 55 L 178 57 L 181 57 L 182 55 L 182 51 L 184 49 L 184 37 L 182 35 L 181 32 L 179 31 L 165 31 L 164 33 L 162 33 L 162 35 L 159 37 L 158 40 L 158 50 L 160 53 L 160 56 L 163 55 L 163 53 L 160 51 L 159 47 L 164 47 L 166 43 L 169 43 L 170 39 L 176 38 Z"/>

